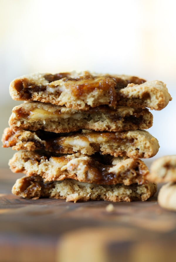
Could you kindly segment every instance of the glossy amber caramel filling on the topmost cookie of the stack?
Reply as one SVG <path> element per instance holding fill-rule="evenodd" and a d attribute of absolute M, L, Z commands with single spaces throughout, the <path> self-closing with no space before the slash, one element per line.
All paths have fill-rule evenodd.
<path fill-rule="evenodd" d="M 57 95 L 60 95 L 63 88 L 66 88 L 77 98 L 99 89 L 108 93 L 109 105 L 115 107 L 117 100 L 116 90 L 125 88 L 128 83 L 141 84 L 145 82 L 145 80 L 138 77 L 131 77 L 126 81 L 111 75 L 93 76 L 89 72 L 85 72 L 84 76 L 79 77 L 70 77 L 70 75 L 70 73 L 46 74 L 43 78 L 48 84 L 40 84 L 40 82 L 34 82 L 27 78 L 16 79 L 13 85 L 23 100 L 31 100 L 33 94 L 38 94 L 39 92 L 57 93 Z"/>

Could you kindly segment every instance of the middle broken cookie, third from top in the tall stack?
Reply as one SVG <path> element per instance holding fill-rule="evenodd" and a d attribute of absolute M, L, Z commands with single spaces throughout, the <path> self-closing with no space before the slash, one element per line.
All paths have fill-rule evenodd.
<path fill-rule="evenodd" d="M 13 150 L 45 149 L 58 154 L 92 155 L 95 152 L 130 158 L 149 158 L 158 152 L 158 140 L 145 130 L 97 132 L 82 130 L 75 133 L 36 132 L 6 128 L 2 137 L 3 147 Z"/>

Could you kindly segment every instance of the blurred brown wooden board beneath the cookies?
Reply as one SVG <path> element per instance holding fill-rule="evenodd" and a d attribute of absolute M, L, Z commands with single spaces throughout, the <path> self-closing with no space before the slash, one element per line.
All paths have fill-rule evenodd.
<path fill-rule="evenodd" d="M 1 169 L 0 261 L 175 261 L 176 212 L 145 202 L 65 202 L 13 196 L 21 174 Z"/>

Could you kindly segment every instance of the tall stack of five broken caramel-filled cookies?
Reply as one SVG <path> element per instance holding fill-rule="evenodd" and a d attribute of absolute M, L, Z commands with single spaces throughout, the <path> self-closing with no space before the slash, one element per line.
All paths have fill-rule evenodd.
<path fill-rule="evenodd" d="M 154 156 L 158 140 L 145 129 L 150 109 L 171 100 L 166 85 L 126 75 L 89 72 L 32 74 L 10 84 L 14 100 L 4 147 L 18 150 L 12 172 L 25 173 L 12 192 L 66 201 L 145 201 L 156 192 L 139 158 Z"/>

